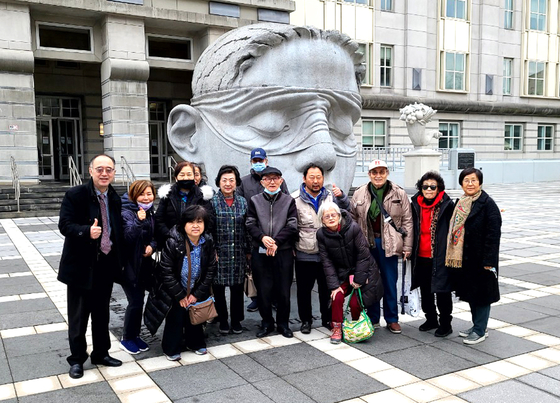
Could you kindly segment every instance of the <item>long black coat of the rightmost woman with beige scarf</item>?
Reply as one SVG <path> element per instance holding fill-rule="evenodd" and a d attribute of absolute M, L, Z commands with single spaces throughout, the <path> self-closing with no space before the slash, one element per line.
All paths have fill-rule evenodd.
<path fill-rule="evenodd" d="M 463 266 L 450 268 L 457 295 L 467 302 L 489 305 L 500 300 L 498 279 L 485 266 L 498 271 L 502 215 L 484 190 L 465 221 Z"/>

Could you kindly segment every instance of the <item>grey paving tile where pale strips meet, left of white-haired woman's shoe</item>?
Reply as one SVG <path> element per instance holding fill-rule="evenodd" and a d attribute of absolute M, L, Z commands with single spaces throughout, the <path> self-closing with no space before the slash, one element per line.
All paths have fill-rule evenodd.
<path fill-rule="evenodd" d="M 259 351 L 249 354 L 249 357 L 279 376 L 334 365 L 339 362 L 303 343 Z"/>

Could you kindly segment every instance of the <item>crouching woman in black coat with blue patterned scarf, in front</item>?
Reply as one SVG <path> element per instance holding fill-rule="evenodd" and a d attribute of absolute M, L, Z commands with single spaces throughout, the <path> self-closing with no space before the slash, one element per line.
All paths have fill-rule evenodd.
<path fill-rule="evenodd" d="M 144 323 L 152 334 L 165 319 L 161 345 L 170 361 L 181 359 L 185 341 L 188 350 L 199 355 L 207 352 L 202 324 L 193 325 L 187 310 L 210 296 L 216 272 L 216 249 L 212 238 L 204 234 L 207 222 L 204 207 L 190 206 L 171 229 L 161 254 L 161 284 L 150 294 L 144 312 Z"/>

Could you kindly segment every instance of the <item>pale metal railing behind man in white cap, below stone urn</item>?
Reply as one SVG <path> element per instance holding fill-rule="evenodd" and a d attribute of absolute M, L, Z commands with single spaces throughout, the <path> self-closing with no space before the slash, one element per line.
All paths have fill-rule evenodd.
<path fill-rule="evenodd" d="M 404 154 L 414 150 L 413 146 L 400 147 L 359 147 L 356 158 L 356 171 L 367 172 L 369 163 L 373 160 L 383 160 L 389 165 L 389 170 L 404 168 Z M 434 148 L 441 153 L 440 166 L 449 162 L 448 148 Z"/>

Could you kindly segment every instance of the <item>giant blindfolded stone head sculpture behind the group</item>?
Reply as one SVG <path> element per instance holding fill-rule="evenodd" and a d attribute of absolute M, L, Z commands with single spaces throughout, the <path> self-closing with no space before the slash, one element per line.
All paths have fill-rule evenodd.
<path fill-rule="evenodd" d="M 358 45 L 338 31 L 256 24 L 230 31 L 198 60 L 190 105 L 169 116 L 169 141 L 209 175 L 248 168 L 261 147 L 290 190 L 310 162 L 325 183 L 348 190 L 354 177 L 364 74 Z"/>

